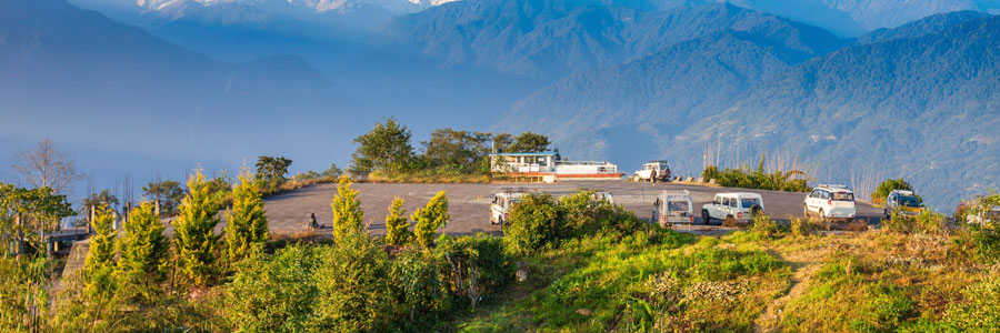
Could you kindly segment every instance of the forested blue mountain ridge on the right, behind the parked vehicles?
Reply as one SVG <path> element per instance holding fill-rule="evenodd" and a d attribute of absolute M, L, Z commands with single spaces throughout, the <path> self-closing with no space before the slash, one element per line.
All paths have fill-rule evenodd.
<path fill-rule="evenodd" d="M 576 73 L 518 102 L 501 127 L 549 130 L 567 155 L 627 168 L 660 155 L 700 170 L 717 148 L 728 165 L 794 154 L 820 181 L 911 179 L 946 210 L 1000 184 L 984 168 L 1000 162 L 1000 17 L 940 14 L 811 52 L 783 37 L 852 40 L 802 29 L 721 31 Z"/>

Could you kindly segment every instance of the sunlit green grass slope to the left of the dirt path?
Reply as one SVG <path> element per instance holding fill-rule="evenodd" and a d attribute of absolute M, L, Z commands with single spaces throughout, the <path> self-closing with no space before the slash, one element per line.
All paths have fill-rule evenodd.
<path fill-rule="evenodd" d="M 668 232 L 616 243 L 587 239 L 542 256 L 566 274 L 519 301 L 460 320 L 463 332 L 750 330 L 767 301 L 787 287 L 789 269 L 761 250 Z M 731 244 L 730 244 L 731 245 Z M 559 262 L 552 261 L 552 262 Z M 708 315 L 711 313 L 712 315 Z"/>

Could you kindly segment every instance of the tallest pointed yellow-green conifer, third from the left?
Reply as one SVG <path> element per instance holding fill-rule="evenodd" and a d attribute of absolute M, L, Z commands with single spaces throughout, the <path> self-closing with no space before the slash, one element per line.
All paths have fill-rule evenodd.
<path fill-rule="evenodd" d="M 201 171 L 188 179 L 188 193 L 173 220 L 173 244 L 177 251 L 177 270 L 193 285 L 206 286 L 216 276 L 219 235 L 219 200 Z"/>

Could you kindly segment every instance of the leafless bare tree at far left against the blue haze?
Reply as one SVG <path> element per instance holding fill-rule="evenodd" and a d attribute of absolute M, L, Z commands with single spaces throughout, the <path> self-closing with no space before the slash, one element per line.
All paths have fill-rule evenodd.
<path fill-rule="evenodd" d="M 49 188 L 62 193 L 71 183 L 83 179 L 68 153 L 61 152 L 49 138 L 38 142 L 34 151 L 18 151 L 11 165 L 36 188 Z"/>

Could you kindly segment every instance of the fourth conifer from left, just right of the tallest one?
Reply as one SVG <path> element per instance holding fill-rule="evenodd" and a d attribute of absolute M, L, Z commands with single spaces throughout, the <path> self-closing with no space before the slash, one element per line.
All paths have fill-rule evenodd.
<path fill-rule="evenodd" d="M 232 188 L 232 211 L 227 213 L 226 221 L 230 263 L 247 258 L 254 246 L 262 246 L 268 240 L 268 216 L 260 189 L 249 171 L 241 172 L 240 182 Z"/>

